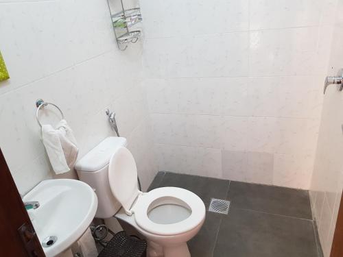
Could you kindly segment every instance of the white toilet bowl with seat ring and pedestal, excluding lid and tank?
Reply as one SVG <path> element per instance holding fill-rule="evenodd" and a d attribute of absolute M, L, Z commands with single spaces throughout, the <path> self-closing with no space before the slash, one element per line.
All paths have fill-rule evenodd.
<path fill-rule="evenodd" d="M 182 188 L 156 188 L 139 195 L 132 215 L 122 208 L 115 217 L 132 225 L 147 239 L 147 256 L 191 256 L 187 241 L 204 223 L 198 196 Z"/>

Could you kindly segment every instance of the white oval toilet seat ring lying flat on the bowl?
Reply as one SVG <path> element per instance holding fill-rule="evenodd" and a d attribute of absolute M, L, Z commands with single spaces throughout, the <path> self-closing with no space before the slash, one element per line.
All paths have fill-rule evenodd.
<path fill-rule="evenodd" d="M 157 207 L 163 204 L 178 204 L 182 202 L 191 210 L 191 215 L 182 221 L 176 223 L 159 224 L 149 219 L 148 212 L 152 207 Z M 177 187 L 162 187 L 156 188 L 149 193 L 140 195 L 137 203 L 134 205 L 134 217 L 137 225 L 143 230 L 152 234 L 159 235 L 176 235 L 188 232 L 200 225 L 205 219 L 204 202 L 198 195 L 183 188 Z"/>

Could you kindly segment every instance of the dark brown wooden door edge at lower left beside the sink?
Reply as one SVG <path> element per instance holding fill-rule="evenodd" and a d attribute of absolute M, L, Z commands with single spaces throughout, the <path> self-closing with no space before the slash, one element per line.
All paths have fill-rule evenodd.
<path fill-rule="evenodd" d="M 0 149 L 0 256 L 43 257 L 43 249 Z"/>

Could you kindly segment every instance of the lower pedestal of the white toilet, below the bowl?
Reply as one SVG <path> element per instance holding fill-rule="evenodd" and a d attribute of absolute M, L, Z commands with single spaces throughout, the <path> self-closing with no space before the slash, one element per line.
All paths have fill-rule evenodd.
<path fill-rule="evenodd" d="M 187 243 L 161 246 L 153 241 L 147 242 L 147 257 L 191 257 Z"/>

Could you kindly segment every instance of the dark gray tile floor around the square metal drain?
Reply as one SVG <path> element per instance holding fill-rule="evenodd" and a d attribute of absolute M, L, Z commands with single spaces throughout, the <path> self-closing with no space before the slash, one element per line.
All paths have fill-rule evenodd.
<path fill-rule="evenodd" d="M 189 241 L 192 257 L 321 257 L 307 191 L 159 172 L 149 190 L 178 186 L 231 201 L 228 215 L 206 212 Z"/>

